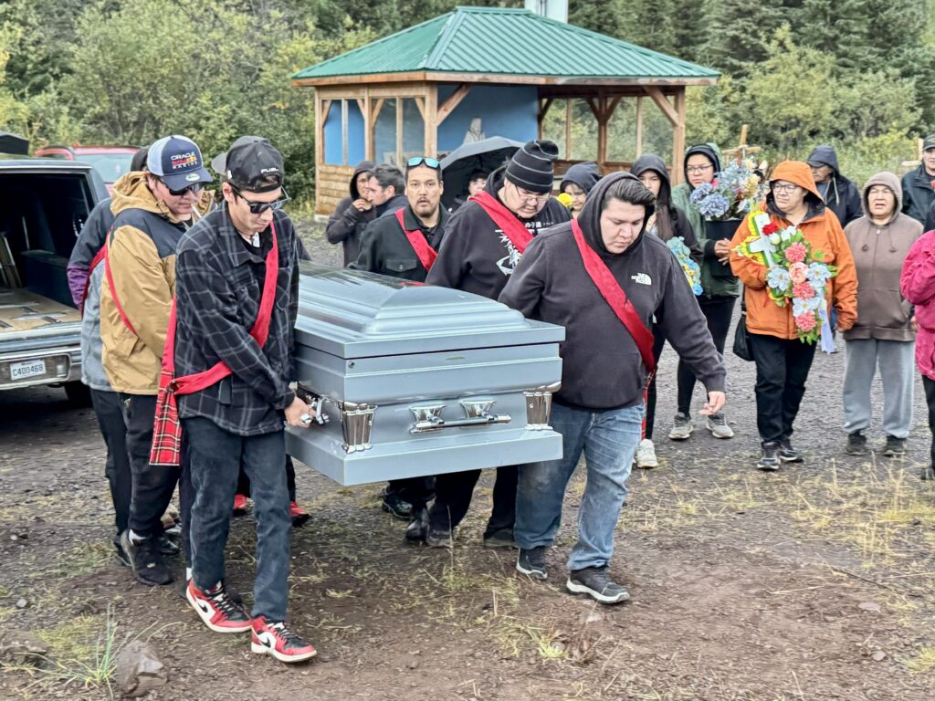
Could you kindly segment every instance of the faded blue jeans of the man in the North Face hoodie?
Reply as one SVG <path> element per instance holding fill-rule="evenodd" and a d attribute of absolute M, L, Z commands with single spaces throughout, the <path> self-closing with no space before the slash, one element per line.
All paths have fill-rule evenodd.
<path fill-rule="evenodd" d="M 552 425 L 562 435 L 560 460 L 520 465 L 513 537 L 524 550 L 551 546 L 562 520 L 568 479 L 582 452 L 587 484 L 578 511 L 578 542 L 568 569 L 602 567 L 611 561 L 613 529 L 626 500 L 626 479 L 640 445 L 643 404 L 588 411 L 554 404 Z"/>

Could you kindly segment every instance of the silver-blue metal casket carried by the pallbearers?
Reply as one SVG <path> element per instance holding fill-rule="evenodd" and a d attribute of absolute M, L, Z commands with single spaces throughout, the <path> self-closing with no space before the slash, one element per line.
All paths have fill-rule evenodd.
<path fill-rule="evenodd" d="M 553 460 L 565 329 L 476 294 L 301 264 L 286 449 L 340 484 Z M 323 423 L 324 421 L 324 423 Z"/>

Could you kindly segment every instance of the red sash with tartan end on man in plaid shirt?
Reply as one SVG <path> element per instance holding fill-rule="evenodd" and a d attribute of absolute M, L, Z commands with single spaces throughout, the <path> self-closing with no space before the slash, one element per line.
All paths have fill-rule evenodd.
<path fill-rule="evenodd" d="M 266 279 L 263 281 L 263 296 L 260 297 L 260 309 L 253 322 L 250 335 L 260 348 L 266 345 L 269 336 L 269 322 L 273 316 L 273 303 L 276 300 L 276 279 L 280 272 L 279 245 L 276 241 L 276 225 L 269 224 L 273 236 L 273 248 L 266 253 Z M 231 374 L 231 369 L 220 361 L 208 370 L 175 377 L 175 334 L 176 303 L 172 300 L 169 312 L 169 325 L 165 333 L 163 351 L 163 369 L 159 374 L 159 394 L 156 397 L 156 419 L 152 430 L 151 465 L 179 465 L 181 457 L 181 424 L 176 396 L 201 392 L 220 382 Z"/>

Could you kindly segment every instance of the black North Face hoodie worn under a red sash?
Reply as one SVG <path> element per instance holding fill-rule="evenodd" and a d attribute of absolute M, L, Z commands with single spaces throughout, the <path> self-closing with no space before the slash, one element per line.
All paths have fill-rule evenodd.
<path fill-rule="evenodd" d="M 601 202 L 617 180 L 597 182 L 578 223 L 640 314 L 656 325 L 709 391 L 724 391 L 724 358 L 714 348 L 708 323 L 666 244 L 644 233 L 623 253 L 613 254 L 600 235 Z M 499 301 L 531 319 L 565 326 L 562 389 L 555 401 L 580 408 L 631 407 L 643 399 L 646 368 L 640 350 L 584 268 L 571 225 L 543 232 L 526 249 Z"/>

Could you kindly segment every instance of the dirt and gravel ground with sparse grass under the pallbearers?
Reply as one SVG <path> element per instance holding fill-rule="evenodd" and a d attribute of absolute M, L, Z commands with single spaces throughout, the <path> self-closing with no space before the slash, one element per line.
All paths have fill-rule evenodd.
<path fill-rule="evenodd" d="M 728 362 L 738 436 L 716 441 L 696 422 L 676 444 L 665 438 L 674 356 L 663 355 L 663 465 L 631 479 L 612 568 L 633 601 L 620 607 L 563 591 L 580 476 L 553 575 L 538 584 L 514 574 L 510 553 L 480 547 L 490 475 L 449 553 L 403 545 L 380 485 L 343 489 L 300 465 L 312 520 L 295 531 L 291 615 L 321 659 L 296 668 L 211 634 L 176 587 L 144 588 L 115 563 L 90 410 L 68 408 L 60 390 L 0 393 L 0 619 L 43 637 L 75 678 L 0 669 L 0 698 L 107 698 L 89 678 L 108 621 L 118 643 L 149 638 L 163 655 L 158 699 L 931 698 L 935 485 L 913 463 L 928 455 L 921 390 L 910 459 L 850 458 L 843 353 L 817 359 L 795 436 L 807 462 L 764 475 L 751 468 L 753 367 Z M 239 519 L 231 536 L 240 590 L 252 580 L 252 527 Z"/>

